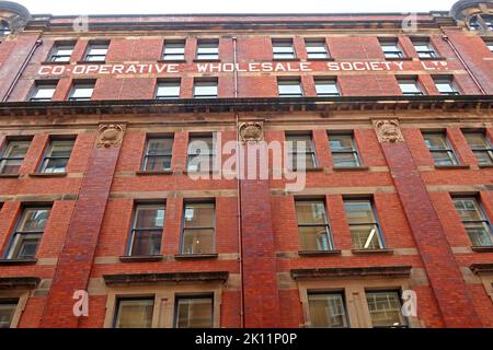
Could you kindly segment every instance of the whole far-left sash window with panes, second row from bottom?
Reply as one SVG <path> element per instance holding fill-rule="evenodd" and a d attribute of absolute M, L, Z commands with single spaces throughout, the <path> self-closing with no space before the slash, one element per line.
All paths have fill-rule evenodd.
<path fill-rule="evenodd" d="M 49 208 L 25 208 L 23 210 L 12 235 L 7 254 L 8 259 L 30 259 L 36 256 L 49 211 Z"/>

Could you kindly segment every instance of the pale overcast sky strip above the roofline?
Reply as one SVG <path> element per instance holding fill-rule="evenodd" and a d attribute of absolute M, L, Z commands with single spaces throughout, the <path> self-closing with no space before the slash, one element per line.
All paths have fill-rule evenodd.
<path fill-rule="evenodd" d="M 448 11 L 457 0 L 13 0 L 33 14 Z"/>

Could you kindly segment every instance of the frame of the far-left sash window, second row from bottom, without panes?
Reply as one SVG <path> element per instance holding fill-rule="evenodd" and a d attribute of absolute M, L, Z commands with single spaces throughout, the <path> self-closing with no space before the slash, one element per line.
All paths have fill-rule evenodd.
<path fill-rule="evenodd" d="M 10 234 L 9 244 L 7 246 L 7 249 L 4 250 L 4 253 L 2 255 L 4 259 L 10 260 L 10 261 L 24 260 L 24 259 L 36 259 L 36 255 L 39 250 L 39 245 L 42 243 L 43 235 L 45 234 L 45 231 L 46 231 L 46 225 L 49 223 L 51 210 L 53 210 L 53 205 L 42 205 L 42 203 L 36 205 L 36 206 L 26 206 L 26 207 L 22 208 L 22 211 L 16 219 L 14 230 Z M 45 226 L 43 228 L 43 231 L 21 231 L 21 225 L 24 224 L 24 222 L 26 220 L 26 213 L 28 211 L 48 211 L 48 217 L 46 219 L 46 223 L 45 223 Z M 36 249 L 32 257 L 19 257 L 19 248 L 20 248 L 19 245 L 21 244 L 20 243 L 21 241 L 18 240 L 18 236 L 19 237 L 37 236 L 36 237 L 36 240 L 37 240 Z M 15 254 L 15 256 L 14 256 L 14 254 Z"/>

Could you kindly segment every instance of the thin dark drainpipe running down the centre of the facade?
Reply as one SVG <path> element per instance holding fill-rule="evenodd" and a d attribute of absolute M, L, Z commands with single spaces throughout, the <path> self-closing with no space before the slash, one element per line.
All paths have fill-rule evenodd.
<path fill-rule="evenodd" d="M 238 38 L 232 37 L 233 40 L 233 79 L 234 79 L 234 98 L 238 98 Z M 240 140 L 240 114 L 234 112 L 234 127 L 237 133 L 237 212 L 238 212 L 238 254 L 240 262 L 240 323 L 241 328 L 244 328 L 244 279 L 243 279 L 243 231 L 241 229 L 242 214 L 241 214 L 241 182 L 240 177 L 242 174 L 241 168 L 241 140 Z"/>

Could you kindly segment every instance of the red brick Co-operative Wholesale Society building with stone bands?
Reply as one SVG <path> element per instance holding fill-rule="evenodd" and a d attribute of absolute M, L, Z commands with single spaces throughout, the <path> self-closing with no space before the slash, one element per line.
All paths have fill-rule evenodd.
<path fill-rule="evenodd" d="M 493 327 L 492 19 L 0 1 L 0 327 Z"/>

